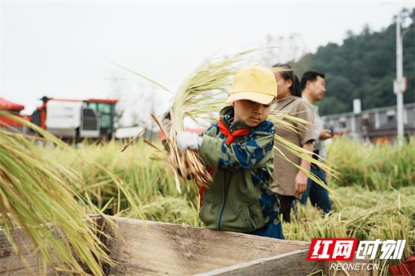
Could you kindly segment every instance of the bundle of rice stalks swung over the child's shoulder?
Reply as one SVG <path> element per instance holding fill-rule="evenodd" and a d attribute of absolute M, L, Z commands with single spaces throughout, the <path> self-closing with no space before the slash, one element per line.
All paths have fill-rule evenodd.
<path fill-rule="evenodd" d="M 232 86 L 234 75 L 242 66 L 247 65 L 251 54 L 254 54 L 257 51 L 258 49 L 247 50 L 231 57 L 212 59 L 206 61 L 202 66 L 197 68 L 192 75 L 184 81 L 181 88 L 176 93 L 172 108 L 164 118 L 167 118 L 169 129 L 166 130 L 163 124 L 153 116 L 160 127 L 161 132 L 163 132 L 166 139 L 165 141 L 169 147 L 167 158 L 162 160 L 166 161 L 172 167 L 176 188 L 179 191 L 181 190 L 179 177 L 181 177 L 185 183 L 188 183 L 188 180 L 191 180 L 192 184 L 198 184 L 199 186 L 209 186 L 210 181 L 212 181 L 212 177 L 199 157 L 198 152 L 190 149 L 185 150 L 185 152 L 180 152 L 176 146 L 176 135 L 178 132 L 184 130 L 183 119 L 189 117 L 194 119 L 194 121 L 217 121 L 217 114 L 219 110 L 225 106 L 225 99 L 228 97 L 228 91 Z M 273 70 L 286 69 L 273 68 Z M 131 70 L 129 71 L 132 72 Z M 142 75 L 139 76 L 142 77 Z M 158 85 L 155 81 L 151 82 Z M 164 86 L 158 86 L 165 89 Z M 272 119 L 275 124 L 282 124 L 282 126 L 286 126 L 293 131 L 297 130 L 295 130 L 295 127 L 291 123 L 301 122 L 308 124 L 308 122 L 302 121 L 302 119 L 278 111 L 274 111 L 273 115 L 270 116 L 270 119 Z M 275 141 L 276 144 L 284 146 L 290 152 L 293 152 L 294 155 L 311 161 L 311 163 L 318 164 L 329 173 L 333 172 L 329 166 L 313 159 L 313 152 L 307 152 L 306 150 L 295 146 L 291 141 L 277 135 L 275 135 Z M 123 150 L 127 148 L 127 146 L 129 145 L 127 144 L 124 146 Z M 278 157 L 290 161 L 276 146 L 275 152 L 277 152 Z M 297 166 L 297 164 L 293 164 L 293 166 L 302 170 L 308 177 L 311 177 L 318 184 L 324 186 L 324 188 L 329 189 L 323 181 L 318 177 L 315 177 L 315 175 L 311 174 L 308 170 L 305 170 L 301 166 Z M 196 190 L 195 185 L 194 188 Z"/>

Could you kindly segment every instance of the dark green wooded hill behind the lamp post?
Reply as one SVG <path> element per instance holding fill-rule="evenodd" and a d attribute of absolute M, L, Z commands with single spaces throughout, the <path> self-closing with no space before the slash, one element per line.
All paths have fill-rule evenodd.
<path fill-rule="evenodd" d="M 406 11 L 412 27 L 403 39 L 403 74 L 407 77 L 404 103 L 415 101 L 415 8 Z M 362 100 L 362 110 L 396 104 L 396 24 L 380 32 L 366 26 L 360 34 L 347 33 L 342 45 L 320 46 L 293 63 L 301 76 L 305 70 L 326 74 L 326 95 L 320 103 L 322 115 L 349 112 L 353 99 Z"/>

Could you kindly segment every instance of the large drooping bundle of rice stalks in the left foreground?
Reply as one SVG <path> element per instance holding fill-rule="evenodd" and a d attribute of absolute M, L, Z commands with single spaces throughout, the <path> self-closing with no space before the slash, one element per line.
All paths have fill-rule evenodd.
<path fill-rule="evenodd" d="M 0 130 L 0 229 L 4 230 L 12 249 L 29 266 L 22 254 L 24 248 L 19 248 L 16 242 L 19 237 L 12 235 L 15 227 L 21 227 L 42 255 L 44 262 L 39 263 L 39 274 L 46 273 L 48 266 L 56 273 L 86 275 L 80 265 L 84 264 L 89 273 L 103 275 L 103 265 L 112 262 L 100 242 L 99 236 L 104 233 L 98 230 L 89 214 L 101 215 L 104 224 L 117 235 L 115 225 L 105 218 L 104 210 L 112 204 L 113 213 L 120 213 L 123 202 L 124 212 L 145 219 L 140 199 L 115 173 L 90 160 L 91 155 L 89 159 L 82 157 L 24 119 L 2 111 L 0 116 L 19 121 L 42 135 L 42 138 L 28 137 Z M 88 176 L 73 168 L 71 159 L 99 178 L 94 177 L 93 183 L 88 183 Z M 98 208 L 93 201 L 100 199 L 101 189 L 113 190 L 113 195 Z"/>

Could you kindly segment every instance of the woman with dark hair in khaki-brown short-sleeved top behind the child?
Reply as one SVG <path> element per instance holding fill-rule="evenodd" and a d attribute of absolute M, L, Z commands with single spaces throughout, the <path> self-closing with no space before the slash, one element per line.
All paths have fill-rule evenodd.
<path fill-rule="evenodd" d="M 309 103 L 301 97 L 302 90 L 299 80 L 291 66 L 287 64 L 275 64 L 273 68 L 277 80 L 277 101 L 273 104 L 273 110 L 279 110 L 309 122 L 309 124 L 300 124 L 291 121 L 295 131 L 281 125 L 275 125 L 275 134 L 313 152 L 313 111 Z M 291 209 L 295 208 L 296 199 L 300 199 L 306 190 L 308 178 L 293 164 L 310 171 L 310 162 L 293 155 L 283 146 L 276 146 L 280 151 L 276 152 L 277 156 L 274 158 L 274 181 L 270 188 L 278 195 L 281 203 L 280 213 L 282 213 L 284 221 L 290 222 Z M 278 155 L 285 155 L 293 164 Z"/>

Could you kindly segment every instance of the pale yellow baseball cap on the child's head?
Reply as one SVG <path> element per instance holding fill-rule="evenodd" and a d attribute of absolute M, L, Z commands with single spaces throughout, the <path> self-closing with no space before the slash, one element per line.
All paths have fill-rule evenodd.
<path fill-rule="evenodd" d="M 277 81 L 272 70 L 263 66 L 246 66 L 237 72 L 226 103 L 249 99 L 269 104 L 277 97 Z"/>

